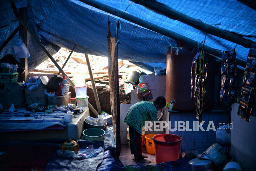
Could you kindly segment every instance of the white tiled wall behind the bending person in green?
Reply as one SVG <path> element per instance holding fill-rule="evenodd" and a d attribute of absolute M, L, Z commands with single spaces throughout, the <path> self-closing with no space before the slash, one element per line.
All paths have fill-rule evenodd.
<path fill-rule="evenodd" d="M 165 75 L 143 75 L 143 83 L 148 83 L 149 89 L 151 90 L 151 94 L 153 96 L 153 99 L 150 100 L 150 102 L 153 102 L 155 100 L 155 97 L 163 96 L 165 97 Z M 124 122 L 124 118 L 130 109 L 132 105 L 135 103 L 138 103 L 139 99 L 136 93 L 136 90 L 131 91 L 131 104 L 120 104 L 120 125 L 121 125 L 121 144 L 128 144 L 127 140 L 127 127 L 128 125 Z M 161 113 L 158 112 L 158 117 L 161 116 Z M 165 121 L 165 116 L 163 117 L 163 121 Z M 152 126 L 153 130 L 153 126 Z M 165 131 L 165 130 L 164 130 Z M 163 132 L 146 132 L 145 134 L 150 133 L 164 133 Z"/>

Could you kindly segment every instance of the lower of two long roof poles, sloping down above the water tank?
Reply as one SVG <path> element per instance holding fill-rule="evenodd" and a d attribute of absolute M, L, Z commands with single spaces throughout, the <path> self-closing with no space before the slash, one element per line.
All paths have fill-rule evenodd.
<path fill-rule="evenodd" d="M 155 31 L 156 33 L 159 33 L 159 34 L 165 35 L 167 37 L 173 38 L 175 40 L 178 40 L 180 42 L 183 42 L 187 45 L 190 45 L 190 46 L 193 46 L 193 47 L 197 46 L 197 42 L 195 40 L 192 40 L 190 38 L 187 38 L 185 36 L 177 34 L 177 33 L 173 32 L 171 30 L 164 29 L 160 26 L 157 26 L 155 24 L 152 24 L 150 22 L 142 20 L 138 17 L 134 17 L 133 15 L 127 14 L 123 11 L 117 10 L 117 9 L 112 8 L 110 6 L 107 6 L 103 3 L 97 2 L 95 0 L 79 0 L 79 1 L 84 2 L 84 3 L 86 3 L 90 6 L 93 6 L 97 9 L 99 9 L 99 10 L 105 11 L 109 14 L 115 15 L 117 17 L 121 17 L 121 18 L 123 18 L 123 19 L 125 19 L 129 22 L 132 22 L 132 23 L 137 24 L 139 26 L 145 27 L 149 30 Z M 202 49 L 201 46 L 199 48 Z M 217 49 L 213 49 L 210 46 L 204 45 L 204 51 L 209 53 L 209 54 L 212 54 L 214 56 L 217 56 L 219 58 L 222 58 L 222 51 L 217 50 Z M 239 64 L 240 66 L 245 67 L 246 66 L 246 61 L 243 61 L 243 60 L 237 58 L 237 64 Z"/>

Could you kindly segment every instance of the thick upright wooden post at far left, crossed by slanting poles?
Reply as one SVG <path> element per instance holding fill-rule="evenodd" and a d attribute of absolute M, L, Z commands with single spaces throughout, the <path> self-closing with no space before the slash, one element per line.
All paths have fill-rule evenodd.
<path fill-rule="evenodd" d="M 19 8 L 19 15 L 20 15 L 21 18 L 23 18 L 24 23 L 27 24 L 27 7 Z M 21 24 L 21 23 L 19 22 L 19 24 Z M 20 37 L 22 37 L 23 42 L 27 47 L 27 30 L 24 27 L 21 27 L 20 30 L 19 30 L 19 38 Z M 21 74 L 21 82 L 22 81 L 26 82 L 27 76 L 28 76 L 28 73 L 27 73 L 27 70 L 28 70 L 28 68 L 27 68 L 27 58 L 20 58 L 19 59 L 19 66 L 21 68 L 25 69 L 24 73 Z"/>

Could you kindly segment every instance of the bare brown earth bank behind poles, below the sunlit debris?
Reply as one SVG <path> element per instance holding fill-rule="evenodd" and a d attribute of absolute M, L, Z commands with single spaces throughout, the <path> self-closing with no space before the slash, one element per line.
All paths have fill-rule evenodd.
<path fill-rule="evenodd" d="M 71 97 L 76 97 L 76 92 L 72 87 L 70 87 L 69 92 L 71 92 Z M 109 88 L 97 89 L 97 93 L 98 93 L 99 101 L 101 104 L 101 110 L 107 113 L 111 113 L 110 102 L 109 102 L 110 101 Z M 90 104 L 94 107 L 95 110 L 97 110 L 97 105 L 96 105 L 96 101 L 93 94 L 93 88 L 90 85 L 87 85 L 87 96 L 89 96 Z M 119 98 L 120 98 L 120 103 L 126 103 L 126 104 L 131 103 L 131 93 L 128 93 L 126 95 L 123 87 L 119 88 Z M 90 116 L 95 117 L 94 113 L 91 110 L 90 110 Z"/>

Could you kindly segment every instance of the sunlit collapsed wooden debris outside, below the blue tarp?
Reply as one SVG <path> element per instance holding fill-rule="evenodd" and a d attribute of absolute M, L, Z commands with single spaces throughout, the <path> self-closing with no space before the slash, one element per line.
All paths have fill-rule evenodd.
<path fill-rule="evenodd" d="M 58 53 L 53 55 L 60 67 L 63 66 L 71 50 L 61 48 Z M 108 84 L 108 62 L 106 57 L 98 57 L 94 55 L 89 55 L 89 61 L 91 64 L 93 78 L 95 82 Z M 119 72 L 119 85 L 125 83 L 126 80 L 122 79 L 122 74 L 127 78 L 130 71 L 140 71 L 140 68 L 129 61 L 118 60 L 118 72 Z M 63 70 L 68 75 L 68 77 L 73 81 L 74 74 L 86 74 L 86 81 L 90 81 L 88 66 L 85 59 L 85 54 L 73 52 L 68 62 L 64 66 Z M 30 74 L 58 74 L 59 70 L 52 63 L 50 59 L 42 62 L 38 67 L 29 72 Z"/>

